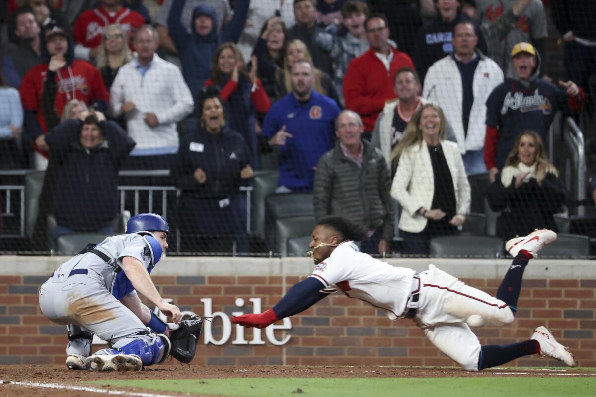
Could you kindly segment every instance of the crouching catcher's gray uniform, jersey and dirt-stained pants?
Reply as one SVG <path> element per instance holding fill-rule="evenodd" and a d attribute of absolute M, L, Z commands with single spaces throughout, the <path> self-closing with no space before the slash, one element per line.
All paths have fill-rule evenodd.
<path fill-rule="evenodd" d="M 139 260 L 150 273 L 153 249 L 157 249 L 155 243 L 151 245 L 151 239 L 155 240 L 150 233 L 108 237 L 95 246 L 97 254 L 75 255 L 60 265 L 41 286 L 39 305 L 42 312 L 49 320 L 69 326 L 67 354 L 91 355 L 92 334 L 122 351 L 129 349 L 126 346 L 139 345 L 139 341 L 150 348 L 156 344 L 156 335 L 120 302 L 126 295 L 136 295 L 122 271 L 122 258 L 128 256 Z M 162 344 L 158 342 L 157 345 Z M 144 362 L 144 365 L 147 364 Z"/>

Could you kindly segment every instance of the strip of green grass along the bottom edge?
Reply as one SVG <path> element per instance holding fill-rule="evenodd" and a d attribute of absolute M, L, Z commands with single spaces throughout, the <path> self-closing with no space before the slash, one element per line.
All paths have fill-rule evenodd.
<path fill-rule="evenodd" d="M 139 387 L 159 392 L 238 397 L 296 396 L 436 396 L 436 397 L 594 397 L 596 377 L 482 378 L 228 378 L 169 380 L 98 380 L 113 387 Z M 300 390 L 302 390 L 302 393 Z"/>

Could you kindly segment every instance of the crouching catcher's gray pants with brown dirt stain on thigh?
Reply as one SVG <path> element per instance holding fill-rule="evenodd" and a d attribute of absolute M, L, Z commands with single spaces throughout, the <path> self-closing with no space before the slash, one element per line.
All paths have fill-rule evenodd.
<path fill-rule="evenodd" d="M 87 329 L 107 340 L 114 349 L 139 339 L 151 343 L 154 336 L 147 335 L 147 327 L 111 295 L 100 279 L 92 277 L 93 274 L 89 270 L 89 275 L 67 277 L 68 274 L 54 272 L 39 290 L 41 311 L 54 323 L 74 324 L 69 326 L 70 334 L 78 335 Z M 66 354 L 83 357 L 88 357 L 90 352 L 90 340 L 73 339 L 66 348 Z"/>

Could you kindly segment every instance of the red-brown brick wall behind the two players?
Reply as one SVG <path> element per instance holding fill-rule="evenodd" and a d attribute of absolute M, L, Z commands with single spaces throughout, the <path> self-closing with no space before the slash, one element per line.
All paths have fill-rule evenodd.
<path fill-rule="evenodd" d="M 154 276 L 165 298 L 173 298 L 182 310 L 204 312 L 201 298 L 212 299 L 212 311 L 252 312 L 249 299 L 260 297 L 263 310 L 281 298 L 280 276 Z M 41 314 L 38 288 L 46 277 L 0 276 L 0 364 L 62 364 L 65 327 L 52 324 Z M 500 279 L 462 279 L 468 285 L 494 294 Z M 285 277 L 285 286 L 299 277 Z M 511 343 L 527 339 L 536 326 L 545 325 L 569 346 L 580 365 L 596 367 L 596 279 L 527 279 L 524 281 L 517 320 L 501 329 L 479 328 L 483 344 Z M 238 307 L 237 298 L 249 305 Z M 222 319 L 212 325 L 214 339 L 222 334 Z M 274 332 L 283 339 L 284 330 Z M 252 339 L 252 330 L 246 330 Z M 301 315 L 291 318 L 291 340 L 274 346 L 234 345 L 236 329 L 222 346 L 201 345 L 197 365 L 453 365 L 426 340 L 411 320 L 390 321 L 371 307 L 336 293 Z M 202 340 L 201 340 L 202 343 Z M 557 365 L 557 362 L 548 364 Z M 545 365 L 539 358 L 518 360 L 514 365 Z"/>

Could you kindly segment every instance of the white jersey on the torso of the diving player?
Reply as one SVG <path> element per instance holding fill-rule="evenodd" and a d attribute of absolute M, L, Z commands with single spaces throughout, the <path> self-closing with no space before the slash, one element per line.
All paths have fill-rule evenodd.
<path fill-rule="evenodd" d="M 382 309 L 387 317 L 396 320 L 406 308 L 415 273 L 363 254 L 354 242 L 346 241 L 319 263 L 309 277 L 321 280 L 325 287 L 335 285 L 346 296 Z"/>

